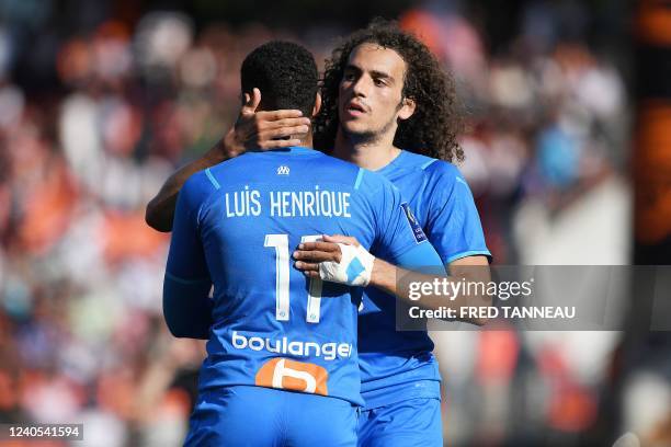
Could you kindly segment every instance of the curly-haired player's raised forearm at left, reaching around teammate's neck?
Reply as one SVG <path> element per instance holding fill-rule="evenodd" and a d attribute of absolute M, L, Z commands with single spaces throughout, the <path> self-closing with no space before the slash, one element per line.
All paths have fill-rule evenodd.
<path fill-rule="evenodd" d="M 147 204 L 145 220 L 149 227 L 157 231 L 172 231 L 174 207 L 180 190 L 189 177 L 198 171 L 220 163 L 235 157 L 237 152 L 230 149 L 226 138 L 217 141 L 203 157 L 180 168 L 166 181 L 159 193 Z"/>

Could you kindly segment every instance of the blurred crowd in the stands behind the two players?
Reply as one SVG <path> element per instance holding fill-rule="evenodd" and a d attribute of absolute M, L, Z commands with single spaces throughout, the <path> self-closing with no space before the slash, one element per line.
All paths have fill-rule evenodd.
<path fill-rule="evenodd" d="M 400 21 L 457 81 L 467 116 L 459 168 L 494 262 L 535 262 L 523 210 L 541 204 L 551 221 L 618 179 L 629 137 L 621 72 L 584 43 L 561 39 L 551 10 L 530 8 L 518 36 L 493 54 L 482 30 L 456 13 L 410 10 Z M 16 26 L 0 25 L 0 421 L 81 422 L 87 445 L 177 445 L 204 348 L 166 329 L 169 239 L 145 225 L 145 205 L 229 128 L 249 50 L 289 38 L 322 64 L 351 30 L 196 30 L 179 12 L 149 12 L 133 27 L 109 20 L 53 45 L 57 83 L 45 93 L 13 78 L 16 51 L 33 50 Z M 604 352 L 613 337 L 601 342 Z M 603 358 L 585 376 L 556 340 L 512 330 L 437 339 L 455 445 L 525 439 L 546 427 L 576 439 L 594 424 Z M 522 426 L 510 410 L 524 396 L 549 400 L 526 406 L 535 413 Z"/>

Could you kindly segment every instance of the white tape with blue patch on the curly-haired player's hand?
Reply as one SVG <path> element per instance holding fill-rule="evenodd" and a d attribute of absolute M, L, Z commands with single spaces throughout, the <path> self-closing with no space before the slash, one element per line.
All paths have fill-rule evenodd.
<path fill-rule="evenodd" d="M 361 245 L 339 243 L 342 257 L 340 262 L 322 262 L 319 264 L 319 277 L 331 283 L 348 286 L 365 287 L 371 283 L 375 256 Z"/>

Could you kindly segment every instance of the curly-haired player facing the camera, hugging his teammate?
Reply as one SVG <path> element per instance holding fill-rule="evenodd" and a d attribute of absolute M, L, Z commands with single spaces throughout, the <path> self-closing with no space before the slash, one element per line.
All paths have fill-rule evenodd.
<path fill-rule="evenodd" d="M 450 162 L 462 161 L 450 77 L 417 37 L 375 21 L 327 61 L 316 147 L 391 180 L 451 275 L 488 280 L 471 193 Z M 311 257 L 311 263 L 329 259 Z M 360 312 L 365 409 L 360 446 L 442 446 L 440 374 L 427 331 L 396 331 L 395 305 L 366 288 Z"/>

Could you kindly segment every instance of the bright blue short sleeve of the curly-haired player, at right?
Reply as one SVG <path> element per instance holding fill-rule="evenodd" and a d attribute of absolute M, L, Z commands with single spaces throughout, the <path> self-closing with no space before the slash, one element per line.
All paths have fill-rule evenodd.
<path fill-rule="evenodd" d="M 487 249 L 473 193 L 460 172 L 452 164 L 436 161 L 429 168 L 432 187 L 424 231 L 443 263 L 466 256 L 485 255 Z"/>

